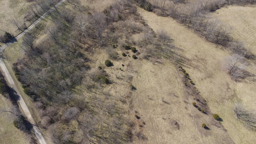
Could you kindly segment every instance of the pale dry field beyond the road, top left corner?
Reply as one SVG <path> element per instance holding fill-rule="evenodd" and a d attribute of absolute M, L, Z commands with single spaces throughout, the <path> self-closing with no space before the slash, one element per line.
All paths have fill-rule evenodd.
<path fill-rule="evenodd" d="M 0 0 L 0 30 L 9 32 L 14 36 L 19 34 L 13 21 L 23 21 L 31 5 L 32 2 L 26 0 Z"/>

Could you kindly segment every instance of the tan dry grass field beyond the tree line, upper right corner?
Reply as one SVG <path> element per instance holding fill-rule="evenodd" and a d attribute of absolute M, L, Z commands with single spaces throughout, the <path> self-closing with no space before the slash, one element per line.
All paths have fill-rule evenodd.
<path fill-rule="evenodd" d="M 228 6 L 212 14 L 232 27 L 232 37 L 256 55 L 256 5 Z"/>

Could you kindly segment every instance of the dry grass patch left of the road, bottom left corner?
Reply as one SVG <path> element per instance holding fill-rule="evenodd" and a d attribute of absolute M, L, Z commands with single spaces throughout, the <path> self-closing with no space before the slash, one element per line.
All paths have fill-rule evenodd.
<path fill-rule="evenodd" d="M 0 95 L 0 110 L 11 110 L 10 100 Z M 28 144 L 25 134 L 12 124 L 13 116 L 7 112 L 0 112 L 1 144 Z"/>

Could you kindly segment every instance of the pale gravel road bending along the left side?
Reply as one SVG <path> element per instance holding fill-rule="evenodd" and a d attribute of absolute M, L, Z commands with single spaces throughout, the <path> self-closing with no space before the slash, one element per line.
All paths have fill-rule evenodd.
<path fill-rule="evenodd" d="M 62 4 L 63 2 L 65 2 L 65 0 L 60 0 L 55 7 L 58 7 L 60 4 Z M 53 9 L 53 8 L 52 8 Z M 52 10 L 50 9 L 50 10 Z M 49 11 L 50 11 L 49 10 Z M 18 40 L 18 38 L 20 38 L 21 36 L 23 36 L 24 34 L 26 34 L 26 32 L 30 31 L 38 22 L 40 22 L 43 18 L 45 18 L 48 15 L 48 12 L 44 13 L 42 16 L 40 16 L 40 18 L 38 18 L 33 24 L 31 24 L 26 30 L 24 30 L 24 32 L 20 33 L 18 36 L 16 36 L 13 40 L 11 40 L 10 42 L 6 43 L 4 46 L 0 47 L 0 51 L 3 51 L 5 48 L 7 48 L 7 46 L 9 46 L 10 44 L 12 44 L 13 42 L 15 42 L 16 40 Z M 28 119 L 28 121 L 33 125 L 33 130 L 35 132 L 36 137 L 38 138 L 38 142 L 40 144 L 47 144 L 42 132 L 40 131 L 40 129 L 36 126 L 36 121 L 34 120 L 34 118 L 32 117 L 32 114 L 30 113 L 28 106 L 26 105 L 26 102 L 24 101 L 24 99 L 22 98 L 22 95 L 20 94 L 18 87 L 16 86 L 16 84 L 14 83 L 14 80 L 12 79 L 12 76 L 10 75 L 10 72 L 8 71 L 8 69 L 6 68 L 6 64 L 4 63 L 4 61 L 2 60 L 2 57 L 0 58 L 0 68 L 9 84 L 9 86 L 11 88 L 13 88 L 17 95 L 20 96 L 18 103 L 20 105 L 20 107 L 22 108 L 22 112 L 25 114 L 26 118 Z"/>

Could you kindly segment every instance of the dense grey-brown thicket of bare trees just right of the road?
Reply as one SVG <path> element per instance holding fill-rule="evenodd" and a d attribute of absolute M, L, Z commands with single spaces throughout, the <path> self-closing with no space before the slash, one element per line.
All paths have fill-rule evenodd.
<path fill-rule="evenodd" d="M 128 18 L 134 7 L 124 0 L 104 12 L 74 3 L 71 7 L 52 10 L 51 26 L 36 26 L 47 34 L 40 42 L 35 42 L 36 34 L 24 36 L 25 56 L 14 64 L 16 76 L 35 102 L 41 126 L 48 130 L 52 142 L 129 142 L 133 124 L 124 118 L 127 110 L 102 89 L 104 83 L 88 76 L 88 71 L 92 71 L 89 57 L 117 40 L 109 31 L 112 22 Z M 107 79 L 106 72 L 102 73 Z"/>

